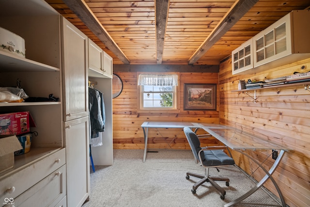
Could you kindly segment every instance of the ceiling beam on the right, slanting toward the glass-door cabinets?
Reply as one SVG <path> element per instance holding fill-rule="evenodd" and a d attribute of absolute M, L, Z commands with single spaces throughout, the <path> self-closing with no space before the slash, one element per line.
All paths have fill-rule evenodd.
<path fill-rule="evenodd" d="M 234 5 L 189 58 L 188 64 L 195 64 L 235 23 L 239 21 L 258 0 L 236 0 Z"/>

